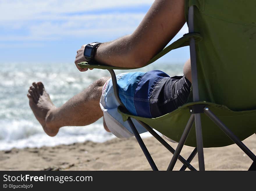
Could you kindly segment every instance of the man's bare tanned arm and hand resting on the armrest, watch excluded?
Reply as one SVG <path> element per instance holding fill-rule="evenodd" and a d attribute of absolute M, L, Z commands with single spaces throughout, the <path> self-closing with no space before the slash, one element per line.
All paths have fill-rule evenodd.
<path fill-rule="evenodd" d="M 95 60 L 117 67 L 143 67 L 168 44 L 184 23 L 184 0 L 155 0 L 138 28 L 131 35 L 101 44 Z M 76 64 L 86 61 L 82 55 L 84 47 L 77 52 Z"/>

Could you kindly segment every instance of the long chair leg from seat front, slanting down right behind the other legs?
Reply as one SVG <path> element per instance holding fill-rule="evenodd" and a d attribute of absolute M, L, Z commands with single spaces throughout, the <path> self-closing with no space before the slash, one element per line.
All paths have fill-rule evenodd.
<path fill-rule="evenodd" d="M 156 138 L 168 151 L 170 151 L 172 154 L 175 152 L 175 149 L 171 147 L 163 138 L 161 138 L 160 135 L 158 135 L 149 125 L 145 124 L 142 121 L 137 120 L 148 132 L 150 132 L 151 135 L 153 135 L 154 138 Z M 184 159 L 181 155 L 179 155 L 178 159 L 184 164 L 183 166 L 188 167 L 190 170 L 196 170 L 190 162 L 188 162 L 186 159 Z M 192 160 L 192 159 L 191 159 Z"/>

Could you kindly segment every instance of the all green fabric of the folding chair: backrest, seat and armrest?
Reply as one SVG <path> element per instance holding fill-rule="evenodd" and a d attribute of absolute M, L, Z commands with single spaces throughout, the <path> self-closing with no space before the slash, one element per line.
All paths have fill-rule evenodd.
<path fill-rule="evenodd" d="M 127 117 L 141 120 L 179 142 L 190 116 L 189 107 L 198 103 L 207 104 L 240 140 L 244 140 L 256 133 L 256 1 L 185 0 L 186 19 L 191 5 L 195 5 L 194 34 L 199 38 L 196 53 L 200 102 L 189 103 L 191 94 L 188 103 L 182 107 L 152 119 L 125 114 L 120 109 L 119 112 L 124 120 Z M 188 45 L 188 38 L 183 41 L 185 37 L 171 44 L 171 49 Z M 151 61 L 167 52 L 168 47 Z M 124 69 L 86 64 L 80 66 Z M 233 144 L 205 114 L 201 114 L 201 118 L 204 147 Z M 196 147 L 194 125 L 185 144 Z"/>

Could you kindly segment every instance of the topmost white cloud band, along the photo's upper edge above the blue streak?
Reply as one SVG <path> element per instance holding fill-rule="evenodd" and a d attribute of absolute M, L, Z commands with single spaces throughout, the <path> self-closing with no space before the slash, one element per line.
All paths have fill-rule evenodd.
<path fill-rule="evenodd" d="M 0 18 L 4 21 L 33 20 L 44 15 L 97 11 L 109 8 L 151 5 L 153 0 L 0 0 Z"/>

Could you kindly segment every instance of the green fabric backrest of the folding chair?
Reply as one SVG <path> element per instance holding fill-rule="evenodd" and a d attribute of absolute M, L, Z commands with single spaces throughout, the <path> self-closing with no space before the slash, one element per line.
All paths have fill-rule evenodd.
<path fill-rule="evenodd" d="M 194 8 L 200 101 L 256 109 L 256 1 L 185 0 Z"/>

